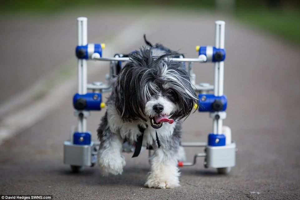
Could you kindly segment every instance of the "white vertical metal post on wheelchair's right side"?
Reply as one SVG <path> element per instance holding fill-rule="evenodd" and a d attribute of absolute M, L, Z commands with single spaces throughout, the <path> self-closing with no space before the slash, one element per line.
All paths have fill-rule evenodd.
<path fill-rule="evenodd" d="M 224 39 L 225 39 L 225 22 L 216 21 L 215 22 L 215 47 L 224 48 Z M 222 96 L 223 95 L 223 84 L 224 84 L 224 61 L 215 62 L 215 77 L 214 77 L 214 95 Z M 222 133 L 223 120 L 222 119 L 213 119 L 213 133 L 221 134 Z"/>

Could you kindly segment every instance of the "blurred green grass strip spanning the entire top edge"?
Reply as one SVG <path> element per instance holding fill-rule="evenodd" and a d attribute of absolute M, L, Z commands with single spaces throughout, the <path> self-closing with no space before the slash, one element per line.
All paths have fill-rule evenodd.
<path fill-rule="evenodd" d="M 229 6 L 224 7 L 225 4 Z M 72 9 L 103 9 L 104 7 L 140 9 L 142 12 L 179 8 L 217 10 L 232 15 L 246 24 L 262 28 L 300 44 L 300 1 L 295 0 L 0 0 L 0 12 L 51 15 Z M 150 9 L 151 8 L 151 9 Z"/>

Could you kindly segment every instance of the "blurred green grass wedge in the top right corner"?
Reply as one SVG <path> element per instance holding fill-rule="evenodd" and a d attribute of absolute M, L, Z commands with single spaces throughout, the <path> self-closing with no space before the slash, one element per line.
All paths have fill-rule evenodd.
<path fill-rule="evenodd" d="M 233 14 L 242 22 L 300 44 L 300 1 L 236 1 Z"/>

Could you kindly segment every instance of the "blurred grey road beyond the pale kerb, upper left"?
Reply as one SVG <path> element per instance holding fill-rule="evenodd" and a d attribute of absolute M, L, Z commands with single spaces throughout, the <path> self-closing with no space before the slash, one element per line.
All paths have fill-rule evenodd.
<path fill-rule="evenodd" d="M 76 65 L 76 60 L 68 61 L 74 57 L 77 44 L 74 19 L 81 13 L 86 15 L 86 12 L 79 11 L 52 16 L 1 17 L 0 92 L 5 95 L 0 95 L 0 107 L 15 100 L 49 74 L 60 72 L 62 66 Z M 119 12 L 117 17 L 108 11 L 89 13 L 89 23 L 93 24 L 88 30 L 89 42 L 96 42 L 91 40 L 96 38 L 111 38 L 139 15 Z M 122 23 L 119 23 L 120 18 L 124 19 Z"/>

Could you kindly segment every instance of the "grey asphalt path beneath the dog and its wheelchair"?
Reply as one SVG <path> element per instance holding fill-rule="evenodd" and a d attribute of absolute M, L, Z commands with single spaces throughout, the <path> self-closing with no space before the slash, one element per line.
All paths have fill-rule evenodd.
<path fill-rule="evenodd" d="M 69 138 L 71 126 L 76 125 L 71 105 L 75 82 L 74 89 L 60 97 L 64 98 L 63 104 L 1 145 L 0 194 L 51 194 L 55 199 L 299 199 L 300 49 L 227 16 L 205 12 L 191 12 L 180 17 L 177 14 L 139 15 L 152 30 L 148 34 L 149 41 L 179 49 L 187 57 L 196 56 L 196 45 L 213 45 L 214 21 L 226 21 L 224 92 L 229 102 L 224 124 L 231 127 L 238 148 L 236 166 L 231 173 L 219 175 L 215 169 L 205 169 L 203 160 L 199 159 L 196 166 L 181 169 L 181 187 L 144 188 L 150 167 L 146 151 L 134 159 L 132 154 L 124 154 L 127 165 L 122 175 L 103 177 L 96 167 L 85 168 L 79 174 L 71 173 L 70 167 L 63 164 L 63 141 Z M 138 18 L 134 12 L 119 15 L 125 22 L 124 27 Z M 100 36 L 98 30 L 102 22 L 118 24 L 118 17 L 105 16 L 101 13 L 87 15 L 90 38 Z M 57 17 L 63 19 L 65 26 L 70 26 L 63 26 L 69 31 L 59 36 L 61 41 L 68 41 L 60 44 L 61 48 L 71 46 L 71 52 L 66 52 L 70 56 L 73 56 L 76 42 L 70 40 L 76 38 L 76 17 L 77 14 Z M 57 24 L 62 26 L 61 23 L 51 21 L 51 29 Z M 96 25 L 92 28 L 93 23 Z M 104 38 L 113 37 L 116 29 L 107 27 Z M 116 52 L 126 53 L 143 45 L 142 35 L 137 36 L 134 29 L 131 32 L 128 37 L 138 38 L 137 41 L 132 46 L 120 46 Z M 49 33 L 44 34 L 41 37 L 46 38 Z M 45 50 L 43 46 L 39 48 Z M 63 60 L 63 56 L 60 59 Z M 76 63 L 75 57 L 74 60 Z M 39 58 L 32 59 L 35 61 L 41 62 Z M 49 71 L 44 68 L 41 74 Z M 212 64 L 195 64 L 194 71 L 197 82 L 212 83 Z M 103 80 L 103 77 L 103 71 L 99 70 L 89 77 L 89 82 Z M 94 139 L 103 113 L 92 113 L 89 118 L 88 129 Z M 208 114 L 192 114 L 184 122 L 183 141 L 206 141 L 211 126 Z M 200 152 L 203 149 L 186 149 L 188 160 Z"/>

